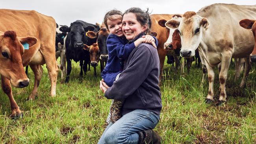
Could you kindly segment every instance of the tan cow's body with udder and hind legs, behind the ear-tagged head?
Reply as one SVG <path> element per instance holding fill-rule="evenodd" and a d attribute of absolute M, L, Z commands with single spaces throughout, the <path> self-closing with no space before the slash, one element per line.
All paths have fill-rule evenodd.
<path fill-rule="evenodd" d="M 35 74 L 34 88 L 28 99 L 34 100 L 37 96 L 37 87 L 43 74 L 41 65 L 45 63 L 51 81 L 50 95 L 55 96 L 58 75 L 55 59 L 55 20 L 36 11 L 10 9 L 0 9 L 0 19 L 0 31 L 14 30 L 20 37 L 30 35 L 38 39 L 37 44 L 25 50 L 22 56 L 23 66 L 30 65 Z M 6 83 L 6 87 L 8 85 Z"/>

